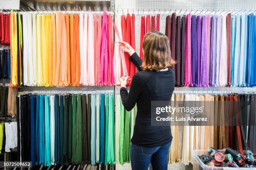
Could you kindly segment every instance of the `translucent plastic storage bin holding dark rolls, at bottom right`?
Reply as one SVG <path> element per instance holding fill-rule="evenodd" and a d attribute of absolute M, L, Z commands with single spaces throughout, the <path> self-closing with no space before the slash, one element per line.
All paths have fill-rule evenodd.
<path fill-rule="evenodd" d="M 205 165 L 197 155 L 209 155 L 207 150 L 193 150 L 193 170 L 256 170 L 256 168 L 211 167 Z"/>

